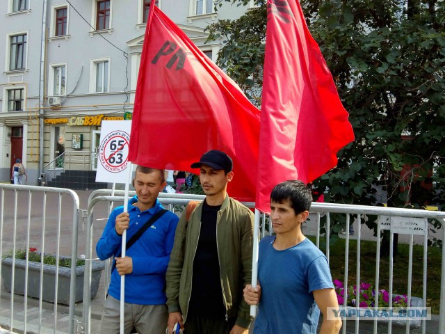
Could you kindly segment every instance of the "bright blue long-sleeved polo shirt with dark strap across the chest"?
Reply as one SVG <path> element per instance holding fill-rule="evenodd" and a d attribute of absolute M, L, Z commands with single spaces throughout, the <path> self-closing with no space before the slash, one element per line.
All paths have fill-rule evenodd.
<path fill-rule="evenodd" d="M 154 207 L 140 211 L 133 206 L 137 196 L 129 199 L 128 213 L 130 225 L 127 230 L 127 242 L 156 212 L 163 209 L 159 200 Z M 122 236 L 115 230 L 116 216 L 124 211 L 124 206 L 116 207 L 111 212 L 102 237 L 97 241 L 96 253 L 100 260 L 120 254 Z M 127 257 L 133 260 L 133 273 L 125 276 L 125 302 L 141 305 L 165 304 L 165 272 L 175 240 L 175 231 L 179 218 L 172 212 L 165 212 L 133 246 L 127 250 Z M 120 275 L 116 269 L 111 274 L 108 294 L 120 300 Z"/>

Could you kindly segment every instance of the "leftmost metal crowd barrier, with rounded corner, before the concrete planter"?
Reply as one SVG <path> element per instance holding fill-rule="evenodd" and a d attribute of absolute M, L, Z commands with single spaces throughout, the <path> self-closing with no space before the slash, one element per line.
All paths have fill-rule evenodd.
<path fill-rule="evenodd" d="M 22 331 L 22 333 L 75 333 L 74 332 L 74 299 L 76 292 L 76 258 L 77 258 L 77 227 L 79 218 L 79 197 L 70 189 L 47 188 L 40 186 L 24 186 L 13 184 L 0 184 L 0 276 L 3 280 L 3 287 L 10 288 L 8 293 L 5 289 L 0 290 L 0 317 L 1 326 L 8 327 L 10 331 Z M 68 212 L 72 210 L 72 218 Z M 68 217 L 68 218 L 67 218 Z M 62 221 L 70 221 L 72 225 L 72 235 L 67 234 L 69 226 L 63 226 Z M 61 242 L 61 239 L 66 242 Z M 67 247 L 67 239 L 71 243 L 71 248 Z M 70 297 L 69 297 L 69 318 L 67 325 L 60 329 L 66 321 L 58 319 L 58 303 L 54 303 L 52 310 L 47 314 L 48 306 L 43 307 L 43 293 L 49 289 L 54 292 L 54 300 L 58 300 L 58 275 L 55 276 L 54 290 L 45 289 L 48 282 L 44 281 L 43 266 L 40 266 L 38 278 L 31 278 L 29 268 L 38 266 L 35 262 L 25 260 L 24 278 L 19 278 L 20 269 L 16 269 L 15 264 L 20 262 L 16 259 L 17 250 L 24 248 L 38 248 L 42 255 L 55 254 L 55 272 L 60 272 L 58 259 L 71 255 L 72 267 L 70 269 Z M 65 253 L 65 254 L 63 254 Z M 10 255 L 10 269 L 6 267 L 6 260 L 3 257 Z M 42 257 L 43 258 L 43 257 Z M 42 261 L 40 262 L 42 264 Z M 18 268 L 18 267 L 17 267 Z M 22 266 L 23 268 L 23 266 Z M 9 276 L 10 277 L 7 277 Z M 37 274 L 36 274 L 37 275 Z M 4 277 L 3 277 L 4 276 Z M 6 283 L 6 282 L 9 283 Z M 34 281 L 38 287 L 37 291 L 31 291 L 29 285 Z M 37 281 L 37 283 L 36 283 Z M 16 289 L 24 289 L 19 292 L 24 296 L 18 296 L 13 292 Z M 37 299 L 28 298 L 29 294 L 38 294 Z M 51 297 L 52 298 L 52 297 Z M 4 304 L 9 303 L 9 308 L 4 308 Z M 37 305 L 35 305 L 37 303 Z M 66 301 L 65 301 L 66 303 Z M 29 306 L 31 304 L 31 307 Z M 37 311 L 37 319 L 36 319 Z M 9 313 L 9 317 L 3 317 Z M 37 323 L 36 323 L 37 320 Z M 52 323 L 52 328 L 51 328 Z"/>

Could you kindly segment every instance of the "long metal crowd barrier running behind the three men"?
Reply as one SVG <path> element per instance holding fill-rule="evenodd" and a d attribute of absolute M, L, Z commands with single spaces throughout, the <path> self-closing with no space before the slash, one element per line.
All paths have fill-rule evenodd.
<path fill-rule="evenodd" d="M 134 192 L 130 192 L 130 196 L 133 196 Z M 89 200 L 88 200 L 88 224 L 87 224 L 87 242 L 86 242 L 86 257 L 90 258 L 90 254 L 92 251 L 92 224 L 93 224 L 93 211 L 94 207 L 98 202 L 123 202 L 124 198 L 124 191 L 115 191 L 113 196 L 111 196 L 110 190 L 101 190 L 101 191 L 95 191 L 91 194 Z M 188 194 L 176 194 L 176 193 L 160 193 L 159 194 L 160 201 L 164 205 L 168 205 L 168 208 L 170 211 L 175 212 L 175 206 L 177 205 L 186 205 L 190 200 L 202 200 L 204 196 L 202 195 L 188 195 Z M 254 207 L 253 202 L 247 202 L 244 203 L 248 207 Z M 393 217 L 404 217 L 407 219 L 407 221 L 412 220 L 412 218 L 422 218 L 424 221 L 427 219 L 435 218 L 439 220 L 442 223 L 442 226 L 445 226 L 445 212 L 432 212 L 432 211 L 426 211 L 426 210 L 419 210 L 419 209 L 401 209 L 401 208 L 389 208 L 389 207 L 371 207 L 371 206 L 363 206 L 363 205 L 341 205 L 341 204 L 332 204 L 332 203 L 320 203 L 320 202 L 314 202 L 312 204 L 311 208 L 312 218 L 315 217 L 315 224 L 316 224 L 316 233 L 314 234 L 316 236 L 316 246 L 320 246 L 320 230 L 321 230 L 321 217 L 325 216 L 325 228 L 327 231 L 330 230 L 330 227 L 332 225 L 331 221 L 331 215 L 332 214 L 344 214 L 346 215 L 346 231 L 349 230 L 351 221 L 351 216 L 355 216 L 356 218 L 356 224 L 359 228 L 357 228 L 356 236 L 354 239 L 357 239 L 357 270 L 355 272 L 356 276 L 356 284 L 360 284 L 360 250 L 361 250 L 361 221 L 364 217 L 364 215 L 375 215 L 378 216 L 378 235 L 380 235 L 380 231 L 382 230 L 389 230 L 390 232 L 390 264 L 389 264 L 389 294 L 392 295 L 393 291 L 393 281 L 392 281 L 392 268 L 393 268 L 393 260 L 392 260 L 392 254 L 393 254 L 393 246 L 392 246 L 392 240 L 394 238 L 394 230 L 391 229 L 391 226 L 395 223 L 391 223 L 391 218 Z M 312 224 L 312 221 L 311 221 Z M 392 224 L 392 225 L 391 225 Z M 403 225 L 403 224 L 402 224 Z M 406 228 L 406 226 L 405 226 Z M 407 232 L 409 232 L 409 228 L 407 228 Z M 445 234 L 445 229 L 444 234 Z M 266 217 L 266 215 L 263 215 L 261 217 L 261 237 L 264 237 L 266 234 L 270 234 L 273 232 L 272 226 L 269 223 L 269 219 Z M 399 233 L 403 233 L 403 226 L 398 227 L 397 230 Z M 426 306 L 426 287 L 427 287 L 427 267 L 426 267 L 426 260 L 427 260 L 427 232 L 428 232 L 428 226 L 423 226 L 423 229 L 420 229 L 420 232 L 416 234 L 421 234 L 423 237 L 423 307 Z M 348 259 L 349 259 L 349 241 L 350 236 L 348 232 L 346 232 L 346 246 L 345 246 L 345 270 L 344 270 L 344 281 L 345 283 L 348 282 Z M 408 273 L 408 292 L 407 292 L 407 298 L 408 298 L 408 305 L 410 305 L 410 301 L 412 299 L 411 296 L 411 275 L 412 275 L 412 248 L 413 248 L 413 234 L 410 234 L 410 255 L 409 255 L 409 273 Z M 443 236 L 443 240 L 445 241 L 445 235 Z M 375 291 L 378 291 L 379 289 L 379 273 L 380 273 L 380 238 L 376 238 L 376 279 L 375 279 Z M 330 257 L 330 238 L 325 238 L 325 247 L 326 247 L 326 256 L 329 260 Z M 444 272 L 445 268 L 445 248 L 442 250 L 442 272 Z M 441 289 L 441 304 L 440 304 L 440 324 L 439 324 L 439 333 L 445 333 L 445 275 L 442 275 L 442 289 Z M 88 283 L 90 278 L 88 276 L 85 276 L 85 286 L 88 286 Z M 354 282 L 353 282 L 354 283 Z M 346 285 L 346 284 L 345 284 Z M 83 303 L 83 324 L 86 333 L 90 333 L 90 298 L 89 298 L 89 289 L 84 289 L 84 298 L 85 301 Z M 390 297 L 391 299 L 391 297 Z M 358 303 L 357 303 L 358 305 Z M 346 306 L 346 302 L 345 305 Z M 358 308 L 358 306 L 357 306 Z M 353 322 L 348 319 L 343 319 L 343 328 L 342 333 L 346 333 L 346 328 L 349 327 L 348 323 Z M 355 321 L 355 333 L 360 333 L 360 321 L 359 319 L 356 319 Z M 388 326 L 387 326 L 387 333 L 391 333 L 392 331 L 391 326 L 391 320 L 389 320 Z M 422 333 L 426 333 L 426 322 L 423 320 L 421 322 L 421 328 Z M 377 333 L 378 331 L 378 321 L 373 321 L 373 333 Z M 348 329 L 348 333 L 351 333 Z M 406 322 L 406 333 L 410 333 L 410 321 Z"/>

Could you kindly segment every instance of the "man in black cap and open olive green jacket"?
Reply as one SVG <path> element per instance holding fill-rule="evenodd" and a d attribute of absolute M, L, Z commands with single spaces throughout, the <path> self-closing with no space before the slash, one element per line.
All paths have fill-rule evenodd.
<path fill-rule="evenodd" d="M 204 153 L 191 167 L 200 168 L 206 198 L 177 226 L 166 275 L 169 331 L 179 323 L 186 334 L 247 334 L 254 215 L 227 195 L 234 173 L 225 152 Z"/>

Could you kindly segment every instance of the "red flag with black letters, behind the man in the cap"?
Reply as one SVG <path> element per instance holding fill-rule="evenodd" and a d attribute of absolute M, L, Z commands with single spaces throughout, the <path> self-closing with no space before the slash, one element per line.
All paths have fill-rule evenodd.
<path fill-rule="evenodd" d="M 259 110 L 159 8 L 150 7 L 131 125 L 129 161 L 189 170 L 208 150 L 234 161 L 229 195 L 253 201 Z"/>

